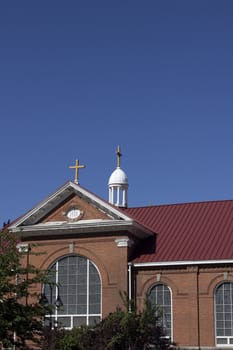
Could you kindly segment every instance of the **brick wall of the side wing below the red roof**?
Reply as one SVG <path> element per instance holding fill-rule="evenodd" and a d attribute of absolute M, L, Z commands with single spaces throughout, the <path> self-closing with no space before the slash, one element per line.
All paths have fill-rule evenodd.
<path fill-rule="evenodd" d="M 232 267 L 191 266 L 135 271 L 139 308 L 149 288 L 164 283 L 171 289 L 173 341 L 179 347 L 214 347 L 214 289 L 225 279 L 233 281 Z"/>

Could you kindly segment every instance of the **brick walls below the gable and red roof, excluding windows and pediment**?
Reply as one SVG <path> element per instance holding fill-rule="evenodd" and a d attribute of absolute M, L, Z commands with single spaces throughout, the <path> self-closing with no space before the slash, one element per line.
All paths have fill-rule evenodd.
<path fill-rule="evenodd" d="M 115 240 L 127 235 L 80 236 L 53 240 L 37 240 L 30 263 L 47 269 L 57 259 L 70 253 L 90 259 L 98 268 L 102 281 L 102 316 L 122 306 L 120 292 L 127 291 L 128 249 L 118 247 Z M 35 241 L 29 242 L 31 244 Z M 33 252 L 44 252 L 35 256 Z M 164 283 L 171 289 L 173 341 L 179 347 L 214 347 L 214 290 L 226 279 L 233 281 L 232 267 L 137 268 L 133 271 L 136 304 L 143 307 L 149 288 Z M 35 287 L 38 292 L 41 286 Z"/>

